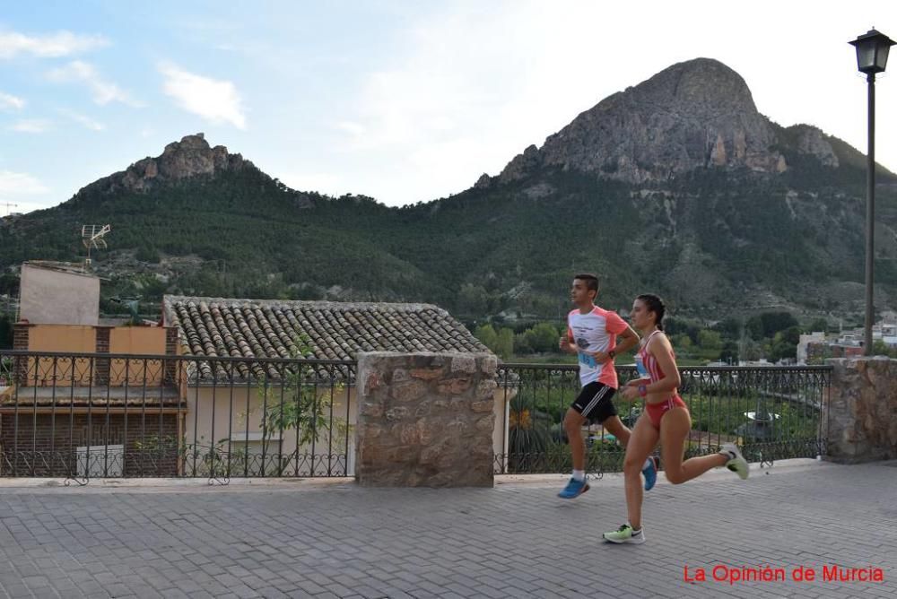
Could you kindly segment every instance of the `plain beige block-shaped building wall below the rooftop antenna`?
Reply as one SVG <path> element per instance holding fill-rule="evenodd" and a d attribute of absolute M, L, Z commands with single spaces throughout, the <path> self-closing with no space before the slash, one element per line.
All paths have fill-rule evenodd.
<path fill-rule="evenodd" d="M 100 323 L 100 279 L 25 263 L 19 295 L 19 319 L 40 325 Z"/>

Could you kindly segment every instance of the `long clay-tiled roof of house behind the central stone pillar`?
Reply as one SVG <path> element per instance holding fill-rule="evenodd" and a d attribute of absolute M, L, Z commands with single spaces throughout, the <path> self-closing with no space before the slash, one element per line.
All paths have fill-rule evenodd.
<path fill-rule="evenodd" d="M 185 353 L 209 358 L 291 358 L 300 334 L 319 360 L 355 360 L 358 352 L 489 352 L 431 304 L 167 295 L 163 309 L 165 324 L 179 327 Z"/>

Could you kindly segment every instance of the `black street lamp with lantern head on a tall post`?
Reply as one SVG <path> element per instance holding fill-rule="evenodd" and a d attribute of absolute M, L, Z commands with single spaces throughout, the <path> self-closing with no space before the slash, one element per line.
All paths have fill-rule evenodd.
<path fill-rule="evenodd" d="M 857 68 L 866 74 L 869 83 L 869 151 L 866 172 L 866 341 L 864 353 L 872 355 L 872 307 L 873 259 L 875 252 L 875 74 L 884 72 L 888 63 L 888 51 L 894 45 L 884 33 L 875 29 L 849 42 L 857 48 Z"/>

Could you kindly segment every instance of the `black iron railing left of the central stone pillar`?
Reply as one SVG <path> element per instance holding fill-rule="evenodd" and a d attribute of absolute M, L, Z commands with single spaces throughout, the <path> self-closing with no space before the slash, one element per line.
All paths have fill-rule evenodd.
<path fill-rule="evenodd" d="M 348 360 L 0 352 L 0 476 L 353 475 Z"/>

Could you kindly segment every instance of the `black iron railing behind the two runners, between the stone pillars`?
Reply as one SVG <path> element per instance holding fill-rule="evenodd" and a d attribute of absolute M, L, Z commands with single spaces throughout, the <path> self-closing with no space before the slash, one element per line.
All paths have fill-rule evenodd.
<path fill-rule="evenodd" d="M 789 457 L 825 455 L 831 367 L 685 367 L 679 393 L 692 415 L 686 457 L 718 451 L 735 442 L 751 462 L 771 464 Z M 620 384 L 635 375 L 618 366 Z M 496 452 L 496 473 L 566 473 L 572 467 L 562 421 L 579 394 L 576 365 L 505 363 L 499 387 L 508 402 L 504 447 Z M 641 402 L 614 399 L 630 429 Z M 603 427 L 584 429 L 588 472 L 623 470 L 623 447 Z M 661 468 L 663 464 L 661 464 Z"/>

